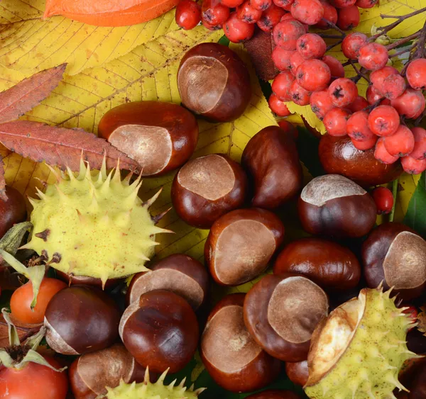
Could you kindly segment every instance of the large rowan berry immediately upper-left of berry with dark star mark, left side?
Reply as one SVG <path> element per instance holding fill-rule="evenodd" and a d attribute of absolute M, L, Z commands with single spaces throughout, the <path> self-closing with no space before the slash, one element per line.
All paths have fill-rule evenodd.
<path fill-rule="evenodd" d="M 307 91 L 324 90 L 331 77 L 329 67 L 320 60 L 306 60 L 296 69 L 297 83 Z"/>

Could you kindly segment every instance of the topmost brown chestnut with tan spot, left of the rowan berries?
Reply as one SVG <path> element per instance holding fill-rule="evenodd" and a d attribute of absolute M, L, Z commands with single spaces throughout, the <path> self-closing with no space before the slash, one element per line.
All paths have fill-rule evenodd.
<path fill-rule="evenodd" d="M 246 64 L 218 43 L 201 43 L 183 56 L 178 89 L 185 107 L 213 122 L 239 118 L 251 100 Z"/>

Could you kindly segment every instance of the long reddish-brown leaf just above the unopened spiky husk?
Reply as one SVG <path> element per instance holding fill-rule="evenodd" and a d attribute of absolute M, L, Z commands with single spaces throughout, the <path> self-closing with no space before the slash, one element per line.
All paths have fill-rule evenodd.
<path fill-rule="evenodd" d="M 0 125 L 0 142 L 9 150 L 51 166 L 73 172 L 80 170 L 80 158 L 88 161 L 93 169 L 100 169 L 104 154 L 107 156 L 107 169 L 116 167 L 120 159 L 120 169 L 141 169 L 139 164 L 117 150 L 107 140 L 87 133 L 82 129 L 65 129 L 29 120 L 13 120 Z"/>

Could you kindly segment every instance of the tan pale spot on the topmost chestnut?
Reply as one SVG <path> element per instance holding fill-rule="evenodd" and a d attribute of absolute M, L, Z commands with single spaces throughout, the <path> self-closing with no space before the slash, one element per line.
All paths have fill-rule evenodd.
<path fill-rule="evenodd" d="M 219 102 L 226 82 L 228 69 L 214 57 L 190 57 L 178 74 L 178 86 L 183 103 L 199 113 L 207 113 Z"/>

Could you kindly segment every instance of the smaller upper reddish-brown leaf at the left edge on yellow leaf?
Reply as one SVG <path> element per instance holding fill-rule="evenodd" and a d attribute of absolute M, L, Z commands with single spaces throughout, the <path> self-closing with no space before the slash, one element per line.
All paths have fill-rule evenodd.
<path fill-rule="evenodd" d="M 38 72 L 0 93 L 0 123 L 9 122 L 30 111 L 58 86 L 67 64 Z"/>

